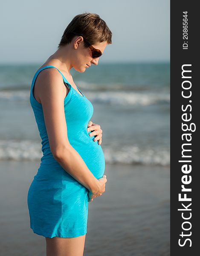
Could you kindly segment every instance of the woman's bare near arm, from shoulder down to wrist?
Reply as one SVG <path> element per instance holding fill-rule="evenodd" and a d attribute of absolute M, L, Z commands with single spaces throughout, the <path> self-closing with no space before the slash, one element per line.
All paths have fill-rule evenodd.
<path fill-rule="evenodd" d="M 36 80 L 41 101 L 50 150 L 66 172 L 90 191 L 99 188 L 99 180 L 87 168 L 82 157 L 67 138 L 64 98 L 67 89 L 61 74 L 55 68 L 43 70 Z"/>

